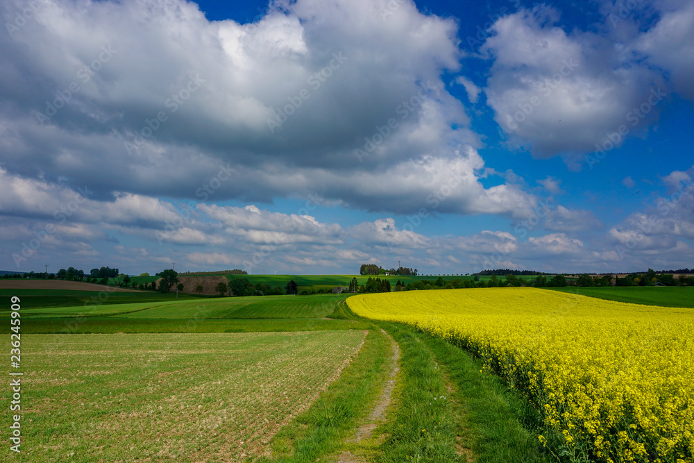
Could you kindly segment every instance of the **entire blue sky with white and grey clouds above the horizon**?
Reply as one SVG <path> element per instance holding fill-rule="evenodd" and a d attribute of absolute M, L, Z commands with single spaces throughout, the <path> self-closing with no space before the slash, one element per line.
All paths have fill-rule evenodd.
<path fill-rule="evenodd" d="M 0 15 L 0 269 L 694 267 L 691 2 Z"/>

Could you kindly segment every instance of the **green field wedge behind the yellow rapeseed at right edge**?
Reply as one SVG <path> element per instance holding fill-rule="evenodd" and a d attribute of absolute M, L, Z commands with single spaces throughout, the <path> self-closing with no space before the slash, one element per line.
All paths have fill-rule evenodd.
<path fill-rule="evenodd" d="M 547 288 L 555 291 L 583 294 L 609 301 L 628 302 L 633 304 L 661 305 L 662 307 L 694 308 L 694 287 L 566 287 Z"/>

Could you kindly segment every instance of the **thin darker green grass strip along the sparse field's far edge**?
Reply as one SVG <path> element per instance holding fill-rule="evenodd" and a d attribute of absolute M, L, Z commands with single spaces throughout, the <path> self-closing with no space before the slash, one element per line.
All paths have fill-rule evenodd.
<path fill-rule="evenodd" d="M 0 334 L 10 333 L 10 322 L 0 323 Z M 364 321 L 323 319 L 120 319 L 22 318 L 22 334 L 87 334 L 114 332 L 276 332 L 316 330 L 365 330 Z"/>

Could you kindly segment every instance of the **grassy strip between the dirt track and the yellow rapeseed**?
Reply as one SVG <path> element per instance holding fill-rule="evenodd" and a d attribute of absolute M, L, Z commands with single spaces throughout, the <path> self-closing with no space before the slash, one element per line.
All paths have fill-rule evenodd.
<path fill-rule="evenodd" d="M 380 323 L 400 344 L 401 384 L 379 463 L 549 463 L 520 394 L 462 349 L 407 326 Z M 471 457 L 473 460 L 468 460 Z"/>

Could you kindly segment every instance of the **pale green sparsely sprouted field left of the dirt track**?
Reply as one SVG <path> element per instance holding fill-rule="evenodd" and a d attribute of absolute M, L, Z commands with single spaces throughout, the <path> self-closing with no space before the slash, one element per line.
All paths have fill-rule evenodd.
<path fill-rule="evenodd" d="M 266 452 L 364 332 L 23 339 L 21 461 L 236 462 Z M 3 387 L 3 403 L 9 395 Z"/>

